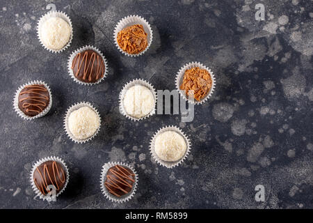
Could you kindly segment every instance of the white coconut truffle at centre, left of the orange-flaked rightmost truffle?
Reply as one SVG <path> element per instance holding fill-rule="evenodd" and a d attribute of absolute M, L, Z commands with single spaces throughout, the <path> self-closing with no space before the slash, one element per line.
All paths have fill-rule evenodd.
<path fill-rule="evenodd" d="M 142 118 L 154 108 L 154 96 L 150 89 L 138 84 L 126 91 L 123 104 L 129 116 Z"/>

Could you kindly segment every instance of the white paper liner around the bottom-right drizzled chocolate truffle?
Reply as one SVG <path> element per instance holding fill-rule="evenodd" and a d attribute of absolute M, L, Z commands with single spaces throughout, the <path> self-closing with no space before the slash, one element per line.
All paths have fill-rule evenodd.
<path fill-rule="evenodd" d="M 133 185 L 133 188 L 131 189 L 131 191 L 128 194 L 122 195 L 121 197 L 116 197 L 113 194 L 111 194 L 105 187 L 104 182 L 106 180 L 106 173 L 109 171 L 109 169 L 111 167 L 114 167 L 115 165 L 120 165 L 122 167 L 127 167 L 129 169 L 131 169 L 131 171 L 133 171 L 133 173 L 135 174 L 135 183 Z M 102 166 L 102 172 L 101 172 L 101 177 L 100 177 L 100 187 L 102 190 L 102 194 L 104 194 L 104 196 L 109 199 L 110 201 L 113 202 L 118 202 L 118 203 L 123 203 L 128 201 L 129 199 L 131 199 L 132 197 L 134 197 L 134 194 L 136 194 L 136 190 L 137 190 L 137 185 L 138 185 L 138 176 L 136 171 L 130 167 L 128 164 L 125 164 L 124 162 L 108 162 L 106 164 L 104 164 Z"/>

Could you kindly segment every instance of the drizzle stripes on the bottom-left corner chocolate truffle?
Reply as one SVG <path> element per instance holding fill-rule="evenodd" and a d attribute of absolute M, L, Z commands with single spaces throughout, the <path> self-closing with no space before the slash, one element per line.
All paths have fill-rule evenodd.
<path fill-rule="evenodd" d="M 46 195 L 46 192 L 47 191 L 48 193 L 50 192 L 50 190 L 48 190 L 48 183 L 47 183 L 47 176 L 49 178 L 49 180 L 51 181 L 51 183 L 54 185 L 54 187 L 56 187 L 56 190 L 60 190 L 60 186 L 58 185 L 58 180 L 56 178 L 56 174 L 58 175 L 58 179 L 61 181 L 61 183 L 65 183 L 65 174 L 64 174 L 64 171 L 63 169 L 61 168 L 61 172 L 62 172 L 62 175 L 63 175 L 63 179 L 61 178 L 60 174 L 59 174 L 59 170 L 58 170 L 58 166 L 56 164 L 56 161 L 54 161 L 52 163 L 52 171 L 54 173 L 54 179 L 51 178 L 50 174 L 49 174 L 49 170 L 48 170 L 48 167 L 47 167 L 47 164 L 44 165 L 43 167 L 43 176 L 42 176 L 42 173 L 40 172 L 40 170 L 38 169 L 38 167 L 35 169 L 35 171 L 38 171 L 38 173 L 40 174 L 40 177 L 41 177 L 41 181 L 44 182 L 44 183 L 40 183 L 40 185 L 38 185 L 37 183 L 37 180 L 34 178 L 34 182 L 35 182 L 35 185 L 38 187 L 38 189 L 40 190 L 40 192 L 44 195 Z"/>

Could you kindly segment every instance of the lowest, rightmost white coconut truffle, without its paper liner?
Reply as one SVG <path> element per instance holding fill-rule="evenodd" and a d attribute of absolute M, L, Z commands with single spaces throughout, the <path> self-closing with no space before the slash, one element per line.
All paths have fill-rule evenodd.
<path fill-rule="evenodd" d="M 154 151 L 164 161 L 175 162 L 186 153 L 187 145 L 184 137 L 174 131 L 166 131 L 157 136 Z"/>

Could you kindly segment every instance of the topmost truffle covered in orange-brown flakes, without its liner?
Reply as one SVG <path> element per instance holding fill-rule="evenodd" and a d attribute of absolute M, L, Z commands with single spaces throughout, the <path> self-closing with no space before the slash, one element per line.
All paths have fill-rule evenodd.
<path fill-rule="evenodd" d="M 147 33 L 143 25 L 136 24 L 126 27 L 118 32 L 118 45 L 129 54 L 138 54 L 147 47 Z"/>

